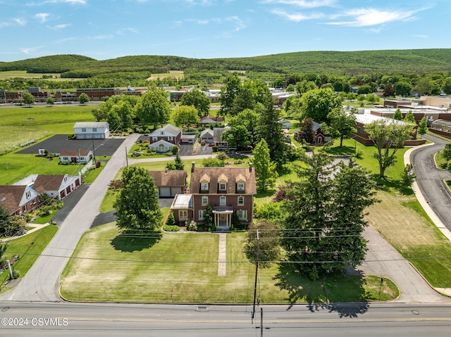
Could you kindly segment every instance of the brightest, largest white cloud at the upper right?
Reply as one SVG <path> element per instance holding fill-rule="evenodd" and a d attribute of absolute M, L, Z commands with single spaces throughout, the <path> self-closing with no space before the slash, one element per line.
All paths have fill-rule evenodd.
<path fill-rule="evenodd" d="M 333 19 L 340 17 L 351 17 L 351 20 L 329 22 L 328 25 L 347 25 L 354 27 L 365 27 L 382 25 L 393 21 L 413 20 L 416 11 L 381 11 L 376 8 L 352 9 L 345 13 L 334 15 Z"/>

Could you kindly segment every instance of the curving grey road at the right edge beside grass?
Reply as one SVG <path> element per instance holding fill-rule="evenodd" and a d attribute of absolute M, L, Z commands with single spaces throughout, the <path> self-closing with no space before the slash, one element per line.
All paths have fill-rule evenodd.
<path fill-rule="evenodd" d="M 414 164 L 417 184 L 435 215 L 451 231 L 451 193 L 443 182 L 443 179 L 451 179 L 451 174 L 435 167 L 433 161 L 433 155 L 443 150 L 449 141 L 431 134 L 425 134 L 424 138 L 435 144 L 419 148 L 410 156 Z"/>

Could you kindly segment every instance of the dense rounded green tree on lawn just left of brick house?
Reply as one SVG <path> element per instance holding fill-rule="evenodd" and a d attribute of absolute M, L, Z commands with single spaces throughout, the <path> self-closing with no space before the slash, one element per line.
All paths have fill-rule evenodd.
<path fill-rule="evenodd" d="M 159 229 L 163 217 L 149 172 L 142 167 L 126 167 L 121 180 L 123 188 L 114 203 L 119 229 L 123 232 Z"/>

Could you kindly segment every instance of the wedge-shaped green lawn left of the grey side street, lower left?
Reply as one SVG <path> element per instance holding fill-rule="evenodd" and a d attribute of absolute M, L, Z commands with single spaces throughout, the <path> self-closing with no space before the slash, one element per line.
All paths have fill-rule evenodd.
<path fill-rule="evenodd" d="M 58 227 L 49 224 L 30 234 L 8 241 L 4 257 L 11 258 L 19 255 L 20 258 L 13 267 L 15 270 L 20 271 L 20 277 L 27 274 L 28 269 L 35 263 L 37 257 L 42 253 L 42 250 L 44 250 L 51 239 L 53 239 L 56 231 L 58 231 Z"/>

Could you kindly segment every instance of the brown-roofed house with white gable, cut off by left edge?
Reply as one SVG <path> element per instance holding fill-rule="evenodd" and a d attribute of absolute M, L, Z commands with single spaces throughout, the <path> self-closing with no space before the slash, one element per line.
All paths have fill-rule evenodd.
<path fill-rule="evenodd" d="M 28 185 L 0 186 L 0 205 L 11 215 L 23 215 L 37 208 L 39 193 Z"/>

